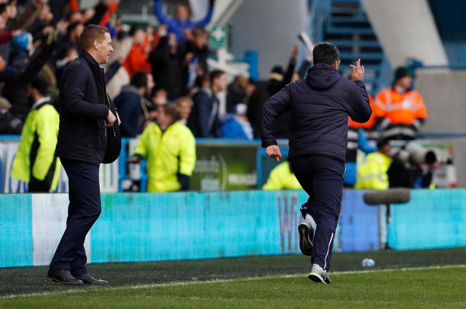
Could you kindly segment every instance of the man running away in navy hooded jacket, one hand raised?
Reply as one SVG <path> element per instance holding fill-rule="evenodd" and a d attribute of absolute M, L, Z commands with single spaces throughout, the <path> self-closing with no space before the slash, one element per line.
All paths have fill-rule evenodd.
<path fill-rule="evenodd" d="M 315 65 L 306 79 L 285 86 L 264 103 L 261 138 L 266 154 L 280 161 L 276 123 L 283 112 L 291 111 L 288 160 L 309 194 L 301 206 L 300 249 L 304 255 L 312 255 L 309 278 L 332 283 L 327 272 L 343 197 L 348 115 L 366 122 L 372 111 L 360 60 L 351 66 L 351 80 L 347 80 L 338 72 L 340 52 L 333 44 L 319 43 L 313 54 Z"/>

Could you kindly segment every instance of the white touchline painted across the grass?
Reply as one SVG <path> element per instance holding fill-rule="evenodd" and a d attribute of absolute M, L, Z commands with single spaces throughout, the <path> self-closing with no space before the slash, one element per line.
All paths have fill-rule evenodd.
<path fill-rule="evenodd" d="M 433 269 L 448 269 L 448 268 L 466 268 L 466 264 L 458 265 L 435 265 L 435 266 L 420 266 L 420 267 L 401 267 L 401 268 L 386 268 L 386 269 L 371 269 L 371 270 L 362 270 L 362 271 L 342 271 L 342 272 L 329 272 L 329 275 L 351 275 L 351 274 L 366 274 L 366 273 L 386 273 L 386 272 L 408 272 L 408 271 L 421 271 L 421 270 L 433 270 Z M 289 274 L 289 275 L 265 275 L 265 276 L 252 276 L 252 277 L 242 277 L 242 278 L 231 278 L 231 279 L 213 279 L 213 280 L 193 280 L 193 281 L 173 281 L 166 283 L 148 283 L 148 284 L 138 284 L 133 286 L 120 286 L 120 287 L 109 287 L 103 288 L 105 291 L 117 291 L 125 289 L 146 289 L 146 288 L 159 288 L 159 287 L 174 287 L 174 286 L 183 286 L 183 285 L 194 285 L 194 284 L 211 284 L 211 283 L 226 283 L 226 282 L 235 282 L 235 281 L 252 281 L 252 280 L 266 280 L 266 279 L 275 279 L 275 278 L 299 278 L 307 277 L 307 274 Z M 100 289 L 95 287 L 95 289 Z M 30 293 L 30 294 L 18 294 L 18 295 L 9 295 L 9 296 L 0 296 L 0 299 L 5 298 L 15 298 L 15 297 L 29 297 L 29 296 L 43 296 L 43 295 L 56 295 L 56 294 L 67 294 L 67 293 L 79 293 L 79 292 L 89 292 L 93 289 L 88 290 L 67 290 L 67 291 L 57 291 L 57 292 L 44 292 L 44 293 Z"/>

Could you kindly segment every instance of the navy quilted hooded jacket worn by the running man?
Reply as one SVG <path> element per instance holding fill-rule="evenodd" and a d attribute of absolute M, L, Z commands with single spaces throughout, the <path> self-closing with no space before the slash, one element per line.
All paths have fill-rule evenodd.
<path fill-rule="evenodd" d="M 289 158 L 325 155 L 345 161 L 348 115 L 366 122 L 372 113 L 362 81 L 342 78 L 337 69 L 318 63 L 306 79 L 286 85 L 262 107 L 262 147 L 276 145 L 276 123 L 291 111 Z"/>

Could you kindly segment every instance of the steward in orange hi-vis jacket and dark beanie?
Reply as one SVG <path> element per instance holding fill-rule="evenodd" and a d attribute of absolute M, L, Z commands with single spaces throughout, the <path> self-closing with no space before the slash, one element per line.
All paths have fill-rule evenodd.
<path fill-rule="evenodd" d="M 410 71 L 399 67 L 393 85 L 377 94 L 374 114 L 383 138 L 414 139 L 424 123 L 426 106 L 419 92 L 412 89 L 412 83 Z"/>

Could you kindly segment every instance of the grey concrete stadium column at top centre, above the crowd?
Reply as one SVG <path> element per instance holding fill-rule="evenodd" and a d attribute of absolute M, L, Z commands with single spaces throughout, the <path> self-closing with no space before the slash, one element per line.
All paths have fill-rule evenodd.
<path fill-rule="evenodd" d="M 242 56 L 246 50 L 259 52 L 259 77 L 265 79 L 274 65 L 288 65 L 291 47 L 307 25 L 306 0 L 244 1 L 230 19 L 232 50 Z"/>

